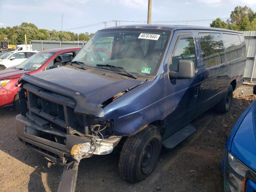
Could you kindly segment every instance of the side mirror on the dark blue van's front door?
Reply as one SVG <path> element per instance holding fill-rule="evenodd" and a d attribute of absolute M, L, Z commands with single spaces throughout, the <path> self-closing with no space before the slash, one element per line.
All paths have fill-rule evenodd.
<path fill-rule="evenodd" d="M 194 62 L 191 60 L 179 60 L 178 71 L 168 71 L 170 79 L 192 79 L 195 76 Z"/>

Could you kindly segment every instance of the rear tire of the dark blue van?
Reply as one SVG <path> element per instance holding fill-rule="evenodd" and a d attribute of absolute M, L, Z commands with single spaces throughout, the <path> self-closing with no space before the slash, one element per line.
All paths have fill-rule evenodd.
<path fill-rule="evenodd" d="M 215 109 L 219 113 L 226 113 L 230 110 L 232 102 L 233 87 L 232 85 L 229 85 L 227 94 L 224 96 L 224 98 L 222 98 L 222 100 L 220 100 L 220 102 L 218 102 L 218 104 L 216 104 Z"/>

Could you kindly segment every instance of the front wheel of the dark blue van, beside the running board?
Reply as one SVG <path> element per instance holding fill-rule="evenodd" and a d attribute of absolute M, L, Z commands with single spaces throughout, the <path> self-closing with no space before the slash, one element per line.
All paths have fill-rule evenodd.
<path fill-rule="evenodd" d="M 161 147 L 160 131 L 153 125 L 128 137 L 122 147 L 118 164 L 122 179 L 136 183 L 150 176 L 158 160 Z"/>

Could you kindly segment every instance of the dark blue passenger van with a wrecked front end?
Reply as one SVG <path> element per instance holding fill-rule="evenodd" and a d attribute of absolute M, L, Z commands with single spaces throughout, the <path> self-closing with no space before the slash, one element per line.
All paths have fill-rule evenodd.
<path fill-rule="evenodd" d="M 18 82 L 18 137 L 65 166 L 121 148 L 120 176 L 135 183 L 154 170 L 162 146 L 195 131 L 209 108 L 230 110 L 243 82 L 242 33 L 218 28 L 129 25 L 99 30 L 66 66 Z M 72 181 L 74 184 L 75 182 Z M 72 187 L 72 186 L 70 186 Z"/>

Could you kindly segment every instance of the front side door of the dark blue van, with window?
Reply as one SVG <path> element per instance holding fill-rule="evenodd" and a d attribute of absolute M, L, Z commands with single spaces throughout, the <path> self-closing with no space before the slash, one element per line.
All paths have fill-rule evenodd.
<path fill-rule="evenodd" d="M 176 41 L 168 60 L 171 71 L 179 70 L 179 60 L 192 60 L 196 71 L 196 44 L 192 33 L 179 33 L 176 35 Z M 195 73 L 192 79 L 170 79 L 168 84 L 173 91 L 173 111 L 167 119 L 167 137 L 192 120 L 196 112 L 199 80 L 197 73 Z"/>

